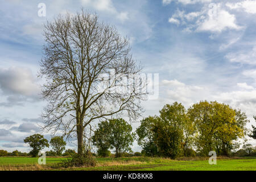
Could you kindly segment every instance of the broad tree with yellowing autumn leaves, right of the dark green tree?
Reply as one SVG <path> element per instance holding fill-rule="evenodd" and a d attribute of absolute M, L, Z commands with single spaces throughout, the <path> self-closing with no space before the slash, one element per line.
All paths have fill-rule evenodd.
<path fill-rule="evenodd" d="M 203 155 L 216 151 L 217 155 L 229 155 L 243 138 L 248 122 L 245 113 L 216 101 L 201 101 L 188 109 L 188 117 L 196 125 L 196 147 Z"/>

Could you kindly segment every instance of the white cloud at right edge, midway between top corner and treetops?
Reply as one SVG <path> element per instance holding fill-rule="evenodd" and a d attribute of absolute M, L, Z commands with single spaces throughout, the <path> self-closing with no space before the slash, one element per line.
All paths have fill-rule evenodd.
<path fill-rule="evenodd" d="M 228 53 L 225 57 L 233 63 L 256 64 L 256 46 L 251 51 Z"/>

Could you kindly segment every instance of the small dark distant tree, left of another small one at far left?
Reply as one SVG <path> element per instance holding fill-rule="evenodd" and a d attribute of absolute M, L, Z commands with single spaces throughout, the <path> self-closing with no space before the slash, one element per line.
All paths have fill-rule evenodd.
<path fill-rule="evenodd" d="M 40 134 L 31 135 L 30 137 L 25 138 L 24 142 L 30 144 L 30 147 L 32 148 L 30 154 L 32 157 L 38 156 L 38 152 L 44 147 L 49 147 L 48 140 Z"/>

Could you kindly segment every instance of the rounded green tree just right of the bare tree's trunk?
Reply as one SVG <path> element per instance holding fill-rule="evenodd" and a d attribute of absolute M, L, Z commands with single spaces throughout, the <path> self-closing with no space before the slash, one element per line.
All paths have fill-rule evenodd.
<path fill-rule="evenodd" d="M 110 149 L 115 149 L 115 156 L 118 157 L 121 151 L 131 151 L 130 145 L 135 138 L 131 131 L 131 125 L 124 119 L 109 119 L 98 124 L 93 143 L 100 148 L 106 144 Z"/>

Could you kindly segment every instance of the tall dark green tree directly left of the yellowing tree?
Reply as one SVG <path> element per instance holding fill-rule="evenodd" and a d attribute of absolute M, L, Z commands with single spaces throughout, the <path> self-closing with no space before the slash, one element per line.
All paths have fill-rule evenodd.
<path fill-rule="evenodd" d="M 160 155 L 175 159 L 192 146 L 195 125 L 185 107 L 177 102 L 165 105 L 154 123 L 154 141 Z"/>

